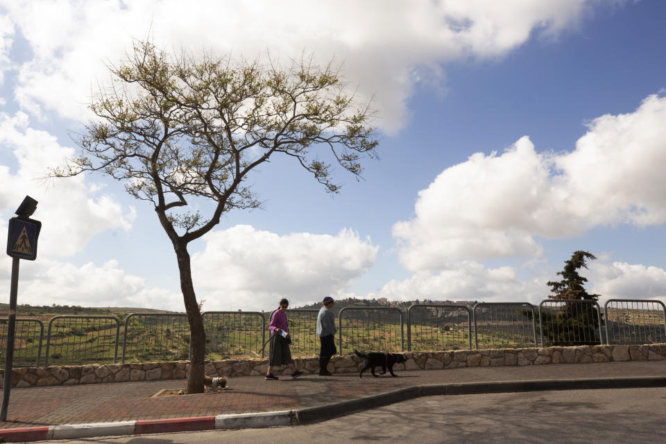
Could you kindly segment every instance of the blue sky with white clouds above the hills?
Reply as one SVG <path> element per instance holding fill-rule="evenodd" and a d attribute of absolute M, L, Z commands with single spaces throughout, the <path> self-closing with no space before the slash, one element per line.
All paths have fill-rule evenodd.
<path fill-rule="evenodd" d="M 280 158 L 250 178 L 262 209 L 189 247 L 204 309 L 538 302 L 579 249 L 602 300 L 666 300 L 666 3 L 218 3 L 0 0 L 0 229 L 26 194 L 44 223 L 19 302 L 182 311 L 149 205 L 101 175 L 35 180 L 74 154 L 103 60 L 151 26 L 188 51 L 334 56 L 380 116 L 381 160 L 337 169 L 340 194 Z"/>

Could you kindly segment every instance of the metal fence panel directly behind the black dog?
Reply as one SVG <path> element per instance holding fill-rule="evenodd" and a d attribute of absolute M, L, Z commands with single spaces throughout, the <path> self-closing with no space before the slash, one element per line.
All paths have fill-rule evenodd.
<path fill-rule="evenodd" d="M 404 351 L 404 321 L 398 307 L 345 307 L 338 314 L 339 350 Z"/>

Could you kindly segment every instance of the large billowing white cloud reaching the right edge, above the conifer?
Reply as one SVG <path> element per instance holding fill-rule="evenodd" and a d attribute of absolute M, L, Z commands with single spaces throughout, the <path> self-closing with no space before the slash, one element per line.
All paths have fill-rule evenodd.
<path fill-rule="evenodd" d="M 570 153 L 537 153 L 521 137 L 504 153 L 475 153 L 419 191 L 415 216 L 393 225 L 411 271 L 452 259 L 539 257 L 537 237 L 603 225 L 666 222 L 666 98 L 604 115 Z"/>

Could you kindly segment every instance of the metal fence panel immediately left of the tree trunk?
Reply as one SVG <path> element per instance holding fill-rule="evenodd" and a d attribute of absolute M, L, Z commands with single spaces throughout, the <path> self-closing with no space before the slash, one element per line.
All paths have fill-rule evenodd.
<path fill-rule="evenodd" d="M 189 359 L 185 313 L 130 313 L 125 318 L 122 361 Z"/>

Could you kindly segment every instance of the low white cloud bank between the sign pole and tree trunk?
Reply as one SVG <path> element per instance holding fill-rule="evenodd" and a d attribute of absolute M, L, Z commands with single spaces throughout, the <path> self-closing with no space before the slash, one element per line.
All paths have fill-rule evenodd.
<path fill-rule="evenodd" d="M 8 261 L 0 267 L 0 283 L 9 287 Z M 144 280 L 128 275 L 109 260 L 75 266 L 40 259 L 21 268 L 19 301 L 31 305 L 80 305 L 82 307 L 149 307 L 184 311 L 182 295 L 168 289 L 146 288 Z"/>

